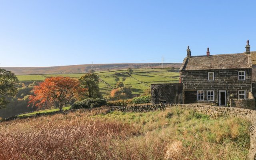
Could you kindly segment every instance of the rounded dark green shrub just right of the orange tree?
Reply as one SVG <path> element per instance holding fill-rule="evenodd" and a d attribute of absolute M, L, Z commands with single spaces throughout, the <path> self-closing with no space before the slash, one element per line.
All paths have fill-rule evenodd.
<path fill-rule="evenodd" d="M 74 102 L 71 106 L 72 109 L 79 108 L 95 108 L 106 105 L 106 100 L 100 98 L 87 98 L 82 101 Z"/>

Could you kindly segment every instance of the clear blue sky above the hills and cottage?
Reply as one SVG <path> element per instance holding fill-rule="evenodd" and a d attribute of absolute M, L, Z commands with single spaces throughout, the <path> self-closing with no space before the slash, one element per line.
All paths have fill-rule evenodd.
<path fill-rule="evenodd" d="M 256 50 L 256 2 L 0 0 L 0 67 L 182 62 Z"/>

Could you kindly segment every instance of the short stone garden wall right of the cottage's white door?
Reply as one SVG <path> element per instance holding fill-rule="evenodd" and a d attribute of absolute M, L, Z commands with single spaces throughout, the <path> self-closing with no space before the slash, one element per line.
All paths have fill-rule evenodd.
<path fill-rule="evenodd" d="M 248 99 L 230 99 L 230 107 L 247 108 L 251 110 L 256 109 L 252 92 L 249 92 Z"/>

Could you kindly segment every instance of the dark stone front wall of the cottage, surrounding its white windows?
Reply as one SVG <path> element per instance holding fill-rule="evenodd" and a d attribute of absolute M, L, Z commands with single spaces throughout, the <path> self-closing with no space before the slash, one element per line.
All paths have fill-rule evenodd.
<path fill-rule="evenodd" d="M 246 80 L 238 80 L 238 71 L 246 71 Z M 208 72 L 214 72 L 214 80 L 208 80 Z M 246 98 L 248 98 L 249 92 L 252 92 L 251 69 L 180 71 L 180 80 L 183 83 L 184 92 L 191 90 L 204 91 L 204 101 L 187 102 L 187 104 L 206 103 L 207 90 L 214 91 L 213 103 L 216 104 L 219 103 L 218 92 L 220 90 L 226 91 L 226 104 L 229 102 L 230 94 L 234 94 L 234 98 L 238 98 L 238 90 L 245 90 Z M 184 96 L 184 100 L 187 98 Z"/>

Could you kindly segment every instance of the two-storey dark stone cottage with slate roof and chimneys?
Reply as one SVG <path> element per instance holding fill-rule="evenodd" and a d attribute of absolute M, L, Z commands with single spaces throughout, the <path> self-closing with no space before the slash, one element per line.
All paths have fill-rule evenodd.
<path fill-rule="evenodd" d="M 180 68 L 182 91 L 174 90 L 169 93 L 182 92 L 179 98 L 182 98 L 180 103 L 183 104 L 227 106 L 230 99 L 247 99 L 249 92 L 256 90 L 256 85 L 254 85 L 256 84 L 256 52 L 250 52 L 249 41 L 245 48 L 244 53 L 218 55 L 210 55 L 209 48 L 207 48 L 205 56 L 192 56 L 188 46 L 187 56 Z M 252 54 L 255 56 L 255 61 L 252 60 Z M 167 101 L 179 102 L 175 100 L 177 96 L 168 97 L 158 94 L 156 97 L 154 94 L 157 90 L 156 85 L 159 84 L 151 86 L 153 103 L 160 102 L 160 99 L 166 103 Z M 165 91 L 163 87 L 158 90 L 161 93 Z"/>

